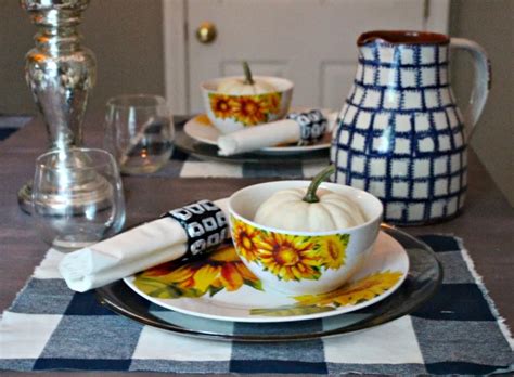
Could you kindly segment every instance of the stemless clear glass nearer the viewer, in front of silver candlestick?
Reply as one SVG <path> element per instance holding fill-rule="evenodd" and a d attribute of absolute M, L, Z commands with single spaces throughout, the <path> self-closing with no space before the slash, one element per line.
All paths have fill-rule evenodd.
<path fill-rule="evenodd" d="M 36 160 L 33 214 L 43 240 L 70 251 L 119 232 L 125 223 L 114 157 L 95 148 L 53 150 Z"/>

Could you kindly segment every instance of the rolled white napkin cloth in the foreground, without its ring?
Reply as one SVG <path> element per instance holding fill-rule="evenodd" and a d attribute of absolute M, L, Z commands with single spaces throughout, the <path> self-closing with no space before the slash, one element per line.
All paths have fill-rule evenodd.
<path fill-rule="evenodd" d="M 228 199 L 214 204 L 228 219 Z M 70 289 L 82 292 L 179 259 L 187 252 L 187 247 L 184 229 L 166 217 L 68 253 L 61 261 L 59 271 Z"/>

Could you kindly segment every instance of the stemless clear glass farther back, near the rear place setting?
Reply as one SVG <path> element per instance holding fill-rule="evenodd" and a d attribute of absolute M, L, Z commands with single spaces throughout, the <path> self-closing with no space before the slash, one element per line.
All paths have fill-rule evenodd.
<path fill-rule="evenodd" d="M 165 99 L 151 94 L 119 95 L 107 101 L 105 148 L 125 174 L 163 168 L 172 153 L 175 128 Z"/>

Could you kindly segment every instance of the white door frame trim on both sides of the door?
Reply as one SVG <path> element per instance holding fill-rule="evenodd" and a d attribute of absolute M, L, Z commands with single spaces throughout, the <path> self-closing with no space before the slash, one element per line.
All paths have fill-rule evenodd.
<path fill-rule="evenodd" d="M 423 29 L 448 34 L 450 0 L 423 1 Z M 177 115 L 190 113 L 187 2 L 162 0 L 165 95 L 171 112 Z"/>

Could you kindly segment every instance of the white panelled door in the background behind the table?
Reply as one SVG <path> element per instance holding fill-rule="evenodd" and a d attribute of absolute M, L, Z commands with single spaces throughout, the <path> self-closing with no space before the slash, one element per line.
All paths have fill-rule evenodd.
<path fill-rule="evenodd" d="M 200 83 L 241 75 L 247 60 L 256 75 L 294 81 L 294 106 L 338 109 L 354 79 L 357 37 L 373 29 L 446 32 L 448 2 L 435 2 L 429 14 L 427 0 L 187 0 L 184 105 L 202 112 Z M 208 44 L 195 36 L 204 22 L 217 28 Z"/>

